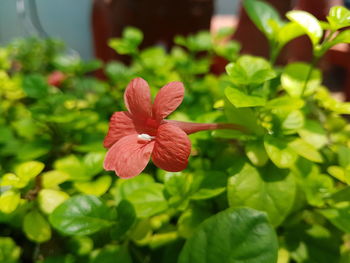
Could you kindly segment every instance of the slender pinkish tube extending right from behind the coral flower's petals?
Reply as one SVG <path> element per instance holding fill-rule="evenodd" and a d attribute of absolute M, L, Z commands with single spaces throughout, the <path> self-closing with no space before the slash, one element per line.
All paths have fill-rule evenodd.
<path fill-rule="evenodd" d="M 183 122 L 175 120 L 164 120 L 167 123 L 171 123 L 180 129 L 182 129 L 187 134 L 192 134 L 199 131 L 207 130 L 239 130 L 244 132 L 243 126 L 231 123 L 193 123 L 193 122 Z"/>

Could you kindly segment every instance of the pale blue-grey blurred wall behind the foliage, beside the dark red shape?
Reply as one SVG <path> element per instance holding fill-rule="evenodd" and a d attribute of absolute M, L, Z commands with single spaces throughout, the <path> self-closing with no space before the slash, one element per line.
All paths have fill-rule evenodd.
<path fill-rule="evenodd" d="M 29 1 L 32 0 L 24 2 L 28 4 Z M 63 39 L 84 59 L 94 57 L 91 27 L 93 0 L 37 0 L 36 3 L 40 21 L 50 36 Z M 236 14 L 237 6 L 238 0 L 216 0 L 214 14 Z M 17 15 L 16 1 L 1 0 L 0 44 L 4 45 L 24 36 L 27 33 Z"/>

